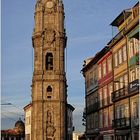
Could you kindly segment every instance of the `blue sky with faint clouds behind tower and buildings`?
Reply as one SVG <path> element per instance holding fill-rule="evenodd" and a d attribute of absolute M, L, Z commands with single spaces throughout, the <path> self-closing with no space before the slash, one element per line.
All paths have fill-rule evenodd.
<path fill-rule="evenodd" d="M 137 0 L 63 0 L 68 37 L 66 74 L 68 102 L 76 132 L 84 132 L 85 105 L 83 61 L 94 56 L 112 38 L 110 23 Z M 32 32 L 36 0 L 1 1 L 1 129 L 13 128 L 23 107 L 31 101 L 33 72 Z M 114 35 L 116 28 L 113 28 Z M 114 36 L 113 35 L 113 36 Z M 11 103 L 11 105 L 3 105 Z"/>

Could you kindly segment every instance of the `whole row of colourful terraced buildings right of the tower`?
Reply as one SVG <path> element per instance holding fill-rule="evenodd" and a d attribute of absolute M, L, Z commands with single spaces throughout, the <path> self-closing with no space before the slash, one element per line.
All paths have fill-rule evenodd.
<path fill-rule="evenodd" d="M 82 69 L 86 91 L 85 134 L 88 140 L 138 140 L 139 2 L 123 10 L 111 25 L 118 28 L 118 34 L 93 58 L 84 61 Z M 93 74 L 94 67 L 97 76 Z"/>

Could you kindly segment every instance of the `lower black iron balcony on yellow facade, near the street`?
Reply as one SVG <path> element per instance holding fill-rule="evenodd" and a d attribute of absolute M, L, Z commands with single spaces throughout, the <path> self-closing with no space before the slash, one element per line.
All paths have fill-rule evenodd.
<path fill-rule="evenodd" d="M 114 128 L 127 128 L 130 126 L 129 117 L 119 118 L 112 121 L 112 126 Z"/>

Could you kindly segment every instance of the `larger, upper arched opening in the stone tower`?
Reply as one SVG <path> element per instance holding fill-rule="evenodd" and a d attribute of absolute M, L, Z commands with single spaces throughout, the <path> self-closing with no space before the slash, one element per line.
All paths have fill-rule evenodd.
<path fill-rule="evenodd" d="M 47 55 L 46 55 L 46 70 L 53 70 L 53 55 L 52 55 L 52 53 L 47 53 Z"/>

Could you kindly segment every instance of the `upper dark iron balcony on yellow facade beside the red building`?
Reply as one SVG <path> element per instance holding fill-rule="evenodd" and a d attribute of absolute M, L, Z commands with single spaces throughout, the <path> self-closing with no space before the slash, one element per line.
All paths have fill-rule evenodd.
<path fill-rule="evenodd" d="M 118 100 L 122 97 L 125 97 L 126 95 L 128 95 L 128 88 L 123 87 L 119 90 L 112 92 L 112 101 Z"/>

